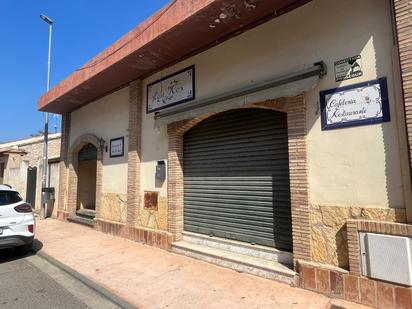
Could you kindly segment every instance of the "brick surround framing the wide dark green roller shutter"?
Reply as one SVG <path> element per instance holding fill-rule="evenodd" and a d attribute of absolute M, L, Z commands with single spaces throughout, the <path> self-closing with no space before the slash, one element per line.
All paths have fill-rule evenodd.
<path fill-rule="evenodd" d="M 311 260 L 304 96 L 269 100 L 250 104 L 244 108 L 265 108 L 287 112 L 293 255 L 295 260 Z M 168 231 L 173 235 L 174 241 L 181 240 L 183 232 L 183 135 L 196 124 L 216 114 L 211 113 L 191 120 L 175 122 L 169 124 L 167 128 L 169 137 Z"/>

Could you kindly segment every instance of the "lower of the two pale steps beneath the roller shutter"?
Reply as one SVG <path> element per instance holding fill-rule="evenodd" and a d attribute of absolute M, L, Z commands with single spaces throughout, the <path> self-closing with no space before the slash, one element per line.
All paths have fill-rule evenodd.
<path fill-rule="evenodd" d="M 297 281 L 296 273 L 291 268 L 276 261 L 207 247 L 185 240 L 175 242 L 172 245 L 172 252 L 291 285 L 295 285 Z"/>

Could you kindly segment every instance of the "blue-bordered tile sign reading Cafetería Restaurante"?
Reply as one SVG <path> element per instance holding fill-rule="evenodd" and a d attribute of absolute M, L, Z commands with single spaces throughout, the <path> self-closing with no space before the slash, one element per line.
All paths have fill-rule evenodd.
<path fill-rule="evenodd" d="M 386 78 L 320 93 L 322 130 L 390 121 Z"/>

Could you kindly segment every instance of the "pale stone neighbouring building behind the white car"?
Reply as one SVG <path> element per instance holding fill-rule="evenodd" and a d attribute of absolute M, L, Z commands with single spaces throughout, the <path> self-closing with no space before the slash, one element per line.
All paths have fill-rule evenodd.
<path fill-rule="evenodd" d="M 59 190 L 60 133 L 49 135 L 47 186 Z M 43 175 L 43 136 L 0 144 L 0 184 L 16 189 L 40 212 Z M 48 215 L 57 216 L 57 200 L 49 202 Z"/>

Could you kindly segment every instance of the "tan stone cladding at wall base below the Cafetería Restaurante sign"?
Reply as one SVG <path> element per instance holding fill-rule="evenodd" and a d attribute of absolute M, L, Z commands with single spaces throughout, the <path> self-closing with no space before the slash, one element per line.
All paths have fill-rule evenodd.
<path fill-rule="evenodd" d="M 349 268 L 346 221 L 348 219 L 406 222 L 406 210 L 311 205 L 312 259 Z"/>

